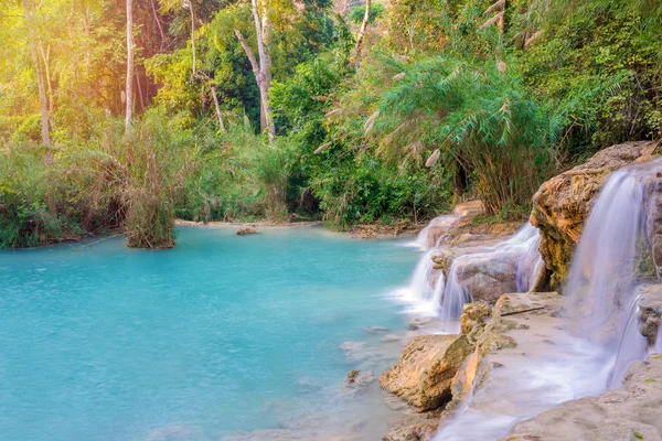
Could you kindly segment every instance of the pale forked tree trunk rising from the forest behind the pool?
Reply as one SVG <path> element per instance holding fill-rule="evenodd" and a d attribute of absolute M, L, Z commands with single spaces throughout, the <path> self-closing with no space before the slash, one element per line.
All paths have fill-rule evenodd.
<path fill-rule="evenodd" d="M 269 35 L 269 21 L 267 19 L 266 11 L 261 12 L 260 18 L 259 4 L 257 3 L 257 0 L 250 0 L 250 4 L 253 9 L 253 20 L 255 21 L 255 35 L 257 40 L 257 53 L 259 61 L 255 58 L 253 50 L 238 29 L 235 29 L 235 34 L 237 35 L 237 39 L 239 39 L 242 47 L 244 47 L 244 52 L 246 52 L 246 56 L 250 62 L 250 67 L 253 68 L 255 80 L 259 89 L 261 130 L 264 131 L 265 129 L 268 129 L 269 141 L 274 141 L 276 139 L 276 126 L 271 115 L 271 106 L 269 105 L 269 88 L 271 87 L 271 57 L 269 56 L 266 47 L 266 41 L 268 40 Z"/>

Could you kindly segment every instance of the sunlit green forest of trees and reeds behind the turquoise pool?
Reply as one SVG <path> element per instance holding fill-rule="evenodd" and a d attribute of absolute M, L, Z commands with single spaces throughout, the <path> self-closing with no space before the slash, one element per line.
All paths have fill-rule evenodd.
<path fill-rule="evenodd" d="M 0 247 L 469 197 L 522 216 L 549 175 L 662 131 L 658 0 L 0 4 Z"/>

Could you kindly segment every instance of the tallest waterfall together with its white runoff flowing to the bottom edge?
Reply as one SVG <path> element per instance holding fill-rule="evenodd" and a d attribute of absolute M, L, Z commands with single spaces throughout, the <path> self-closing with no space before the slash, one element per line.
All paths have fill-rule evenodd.
<path fill-rule="evenodd" d="M 522 359 L 491 372 L 435 441 L 500 439 L 517 421 L 618 387 L 630 364 L 648 356 L 637 287 L 659 282 L 652 232 L 660 178 L 662 160 L 612 173 L 573 259 L 563 309 L 567 316 L 530 322 L 536 334 L 521 334 L 531 338 L 528 345 L 524 340 L 509 355 L 508 349 L 496 353 L 496 362 L 517 354 Z M 566 326 L 558 326 L 558 320 Z M 553 338 L 553 345 L 546 347 L 540 335 Z M 652 351 L 662 353 L 662 326 Z"/>

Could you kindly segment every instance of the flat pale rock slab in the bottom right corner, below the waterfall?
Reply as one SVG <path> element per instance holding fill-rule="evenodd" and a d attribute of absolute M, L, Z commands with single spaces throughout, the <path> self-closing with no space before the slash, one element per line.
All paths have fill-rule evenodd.
<path fill-rule="evenodd" d="M 503 440 L 662 441 L 662 355 L 636 363 L 621 389 L 566 401 L 513 428 Z"/>

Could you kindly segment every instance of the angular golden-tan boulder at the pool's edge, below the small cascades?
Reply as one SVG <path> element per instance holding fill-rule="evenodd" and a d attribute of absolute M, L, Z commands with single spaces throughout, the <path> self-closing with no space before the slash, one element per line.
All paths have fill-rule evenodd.
<path fill-rule="evenodd" d="M 398 364 L 382 375 L 380 385 L 419 412 L 436 409 L 450 400 L 451 380 L 472 351 L 466 335 L 415 337 Z"/>

